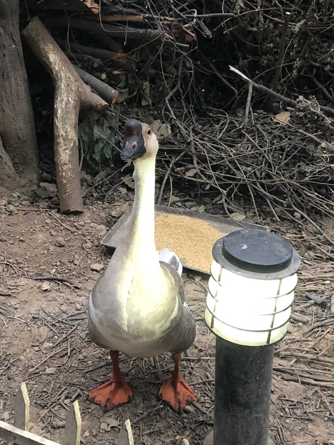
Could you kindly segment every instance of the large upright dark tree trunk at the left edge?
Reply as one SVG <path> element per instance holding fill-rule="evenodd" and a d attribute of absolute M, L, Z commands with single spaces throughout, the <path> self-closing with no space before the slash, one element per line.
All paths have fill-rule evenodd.
<path fill-rule="evenodd" d="M 37 139 L 20 40 L 19 0 L 0 0 L 0 138 L 21 180 L 36 183 Z"/>

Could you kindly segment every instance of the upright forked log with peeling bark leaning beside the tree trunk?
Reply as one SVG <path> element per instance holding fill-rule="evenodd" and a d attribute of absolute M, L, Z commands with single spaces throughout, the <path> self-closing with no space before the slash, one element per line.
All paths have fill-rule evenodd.
<path fill-rule="evenodd" d="M 107 103 L 81 81 L 38 17 L 31 20 L 22 34 L 53 81 L 54 152 L 60 210 L 82 212 L 77 139 L 79 109 L 102 109 Z"/>

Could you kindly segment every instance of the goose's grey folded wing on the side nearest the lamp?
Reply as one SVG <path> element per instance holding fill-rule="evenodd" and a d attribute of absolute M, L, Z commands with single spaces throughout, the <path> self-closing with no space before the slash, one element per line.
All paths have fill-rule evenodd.
<path fill-rule="evenodd" d="M 179 295 L 178 314 L 164 338 L 164 341 L 169 345 L 168 352 L 179 354 L 186 351 L 193 344 L 196 336 L 196 323 L 186 303 L 182 278 L 170 264 L 160 261 L 160 265 L 165 270 L 167 269 L 167 272 L 173 278 Z"/>

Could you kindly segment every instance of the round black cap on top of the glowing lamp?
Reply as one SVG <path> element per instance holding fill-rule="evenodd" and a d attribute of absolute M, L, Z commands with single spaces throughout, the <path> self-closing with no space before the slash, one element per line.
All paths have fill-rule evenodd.
<path fill-rule="evenodd" d="M 215 261 L 225 269 L 255 279 L 282 279 L 296 273 L 301 265 L 297 251 L 272 232 L 242 229 L 216 241 Z"/>

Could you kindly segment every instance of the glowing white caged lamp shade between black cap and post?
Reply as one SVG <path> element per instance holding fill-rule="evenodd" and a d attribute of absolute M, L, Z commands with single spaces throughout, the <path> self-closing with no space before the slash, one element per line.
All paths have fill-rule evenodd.
<path fill-rule="evenodd" d="M 205 321 L 232 343 L 276 343 L 287 332 L 296 284 L 296 273 L 282 279 L 249 278 L 213 261 Z"/>

